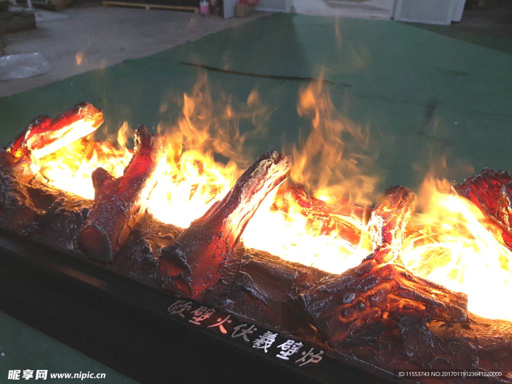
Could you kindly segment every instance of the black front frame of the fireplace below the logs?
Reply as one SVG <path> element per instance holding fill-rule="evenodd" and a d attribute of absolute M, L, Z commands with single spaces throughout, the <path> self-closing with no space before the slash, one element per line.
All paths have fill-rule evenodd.
<path fill-rule="evenodd" d="M 0 229 L 0 310 L 143 384 L 392 380 L 331 356 L 307 369 L 284 364 L 169 316 L 166 309 L 176 300 Z"/>

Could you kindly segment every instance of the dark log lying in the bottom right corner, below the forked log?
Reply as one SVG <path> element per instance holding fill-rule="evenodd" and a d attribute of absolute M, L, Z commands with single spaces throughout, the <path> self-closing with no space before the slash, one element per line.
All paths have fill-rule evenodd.
<path fill-rule="evenodd" d="M 512 382 L 510 350 L 512 323 L 489 320 L 468 313 L 468 323 L 431 321 L 426 326 L 383 331 L 375 343 L 344 345 L 331 352 L 335 357 L 363 369 L 376 368 L 393 372 L 400 370 L 482 370 L 501 372 L 501 377 L 487 378 L 485 382 Z M 361 361 L 369 366 L 361 366 Z M 402 380 L 399 380 L 402 381 Z M 418 379 L 424 383 L 478 384 L 482 378 Z"/>

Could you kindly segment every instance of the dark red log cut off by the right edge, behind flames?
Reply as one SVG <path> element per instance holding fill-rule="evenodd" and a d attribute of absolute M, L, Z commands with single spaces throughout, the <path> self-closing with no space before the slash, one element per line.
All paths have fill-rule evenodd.
<path fill-rule="evenodd" d="M 512 249 L 512 175 L 484 168 L 477 176 L 453 187 L 503 230 L 503 240 Z"/>

